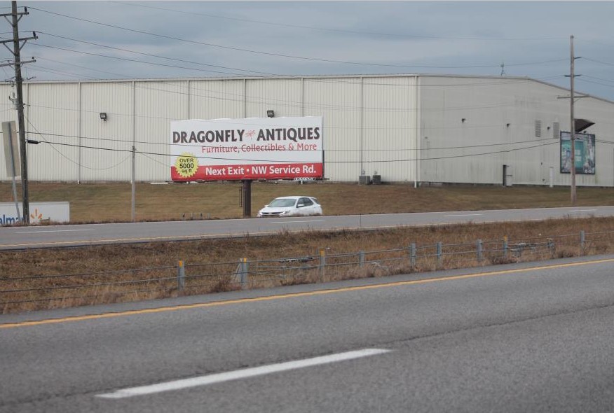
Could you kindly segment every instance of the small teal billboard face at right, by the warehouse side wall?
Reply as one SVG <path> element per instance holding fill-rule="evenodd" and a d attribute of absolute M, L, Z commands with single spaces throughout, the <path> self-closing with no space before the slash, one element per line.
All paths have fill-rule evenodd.
<path fill-rule="evenodd" d="M 576 174 L 595 174 L 595 135 L 575 134 L 575 155 L 571 156 L 571 133 L 561 132 L 561 174 L 571 174 L 571 165 Z"/>

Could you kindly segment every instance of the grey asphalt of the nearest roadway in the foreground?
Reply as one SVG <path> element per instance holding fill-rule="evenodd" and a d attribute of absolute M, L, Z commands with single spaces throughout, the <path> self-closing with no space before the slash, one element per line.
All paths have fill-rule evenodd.
<path fill-rule="evenodd" d="M 0 412 L 606 412 L 613 275 L 601 255 L 0 316 Z"/>

